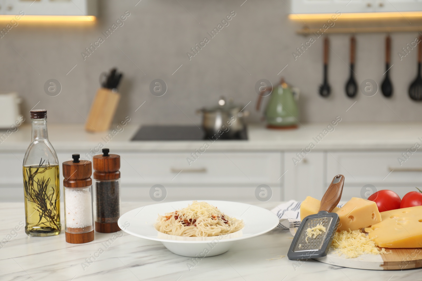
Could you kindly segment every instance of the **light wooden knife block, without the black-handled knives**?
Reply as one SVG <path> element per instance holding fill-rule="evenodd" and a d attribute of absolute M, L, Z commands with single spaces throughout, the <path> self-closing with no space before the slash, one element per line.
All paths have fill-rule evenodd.
<path fill-rule="evenodd" d="M 119 93 L 106 88 L 98 89 L 89 110 L 85 130 L 89 132 L 107 131 L 113 121 L 119 100 Z"/>

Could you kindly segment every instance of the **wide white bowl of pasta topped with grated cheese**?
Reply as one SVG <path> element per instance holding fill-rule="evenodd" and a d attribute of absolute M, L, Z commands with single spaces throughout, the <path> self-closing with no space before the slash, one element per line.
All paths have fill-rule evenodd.
<path fill-rule="evenodd" d="M 201 208 L 196 204 L 202 205 Z M 216 209 L 208 211 L 211 219 L 205 214 L 208 205 L 214 207 L 211 209 Z M 196 210 L 192 213 L 185 212 L 180 219 L 180 211 L 189 207 L 204 208 L 199 213 L 203 217 L 199 221 L 199 216 L 193 217 L 198 214 Z M 192 224 L 194 219 L 196 221 Z M 230 225 L 226 224 L 225 220 L 230 221 Z M 279 224 L 279 218 L 267 209 L 245 203 L 177 201 L 139 207 L 123 214 L 118 224 L 122 230 L 133 236 L 160 241 L 175 254 L 186 257 L 211 257 L 227 252 L 235 241 L 267 233 Z"/>

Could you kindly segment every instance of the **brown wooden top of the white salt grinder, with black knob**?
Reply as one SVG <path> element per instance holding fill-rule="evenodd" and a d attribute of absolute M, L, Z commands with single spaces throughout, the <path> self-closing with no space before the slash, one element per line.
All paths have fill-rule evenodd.
<path fill-rule="evenodd" d="M 72 154 L 73 161 L 63 162 L 63 186 L 87 187 L 92 185 L 91 161 L 79 160 L 79 154 Z"/>

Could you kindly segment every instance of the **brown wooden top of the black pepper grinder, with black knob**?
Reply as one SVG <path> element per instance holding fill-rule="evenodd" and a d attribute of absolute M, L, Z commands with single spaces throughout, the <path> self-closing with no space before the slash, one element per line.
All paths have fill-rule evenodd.
<path fill-rule="evenodd" d="M 108 154 L 110 150 L 103 148 L 103 154 L 92 158 L 94 164 L 94 179 L 112 180 L 120 178 L 120 155 Z"/>

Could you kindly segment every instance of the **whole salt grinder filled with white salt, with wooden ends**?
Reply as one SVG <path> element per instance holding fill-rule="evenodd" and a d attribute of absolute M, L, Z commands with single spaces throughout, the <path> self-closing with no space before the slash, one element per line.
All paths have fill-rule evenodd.
<path fill-rule="evenodd" d="M 63 162 L 66 242 L 82 244 L 94 240 L 92 165 L 91 161 L 79 160 L 79 154 L 72 158 Z"/>

